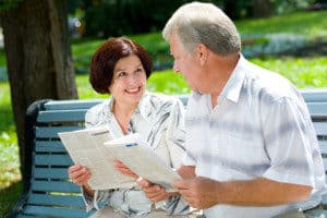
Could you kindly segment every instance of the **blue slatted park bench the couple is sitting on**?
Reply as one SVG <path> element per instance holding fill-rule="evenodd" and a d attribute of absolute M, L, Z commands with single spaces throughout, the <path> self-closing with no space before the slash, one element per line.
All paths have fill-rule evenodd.
<path fill-rule="evenodd" d="M 307 104 L 327 169 L 327 89 L 302 92 Z M 186 96 L 180 96 L 186 104 Z M 24 193 L 10 217 L 88 217 L 80 187 L 68 179 L 73 162 L 61 144 L 58 132 L 84 128 L 93 100 L 40 100 L 26 114 L 26 162 Z M 28 152 L 29 150 L 29 152 Z M 323 198 L 327 209 L 327 195 Z M 327 215 L 327 210 L 326 210 Z"/>

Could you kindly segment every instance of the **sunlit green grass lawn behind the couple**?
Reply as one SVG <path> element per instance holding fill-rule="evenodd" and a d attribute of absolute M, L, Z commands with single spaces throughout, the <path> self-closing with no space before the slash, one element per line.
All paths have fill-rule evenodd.
<path fill-rule="evenodd" d="M 305 37 L 327 37 L 327 11 L 301 12 L 279 15 L 267 20 L 238 21 L 237 26 L 243 36 L 264 35 L 268 33 L 294 33 Z M 160 33 L 135 35 L 131 38 L 144 46 L 156 61 L 164 61 L 169 53 L 168 44 L 161 39 Z M 72 52 L 75 66 L 87 73 L 89 59 L 104 39 L 73 40 Z M 263 68 L 274 70 L 288 77 L 299 88 L 327 86 L 327 58 L 264 58 L 252 59 Z M 5 65 L 3 49 L 0 49 L 0 66 Z M 106 98 L 95 93 L 87 75 L 76 76 L 80 98 Z M 190 89 L 180 74 L 171 70 L 153 73 L 147 83 L 148 90 L 166 94 L 184 94 Z M 16 202 L 21 193 L 19 172 L 19 149 L 15 126 L 10 101 L 10 89 L 7 82 L 0 82 L 0 217 Z M 4 197 L 5 196 L 5 197 Z"/>

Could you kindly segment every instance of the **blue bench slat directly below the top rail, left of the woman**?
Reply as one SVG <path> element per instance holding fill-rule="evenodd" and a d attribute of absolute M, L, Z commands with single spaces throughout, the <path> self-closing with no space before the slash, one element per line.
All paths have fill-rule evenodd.
<path fill-rule="evenodd" d="M 86 109 L 40 111 L 38 122 L 84 122 Z"/>

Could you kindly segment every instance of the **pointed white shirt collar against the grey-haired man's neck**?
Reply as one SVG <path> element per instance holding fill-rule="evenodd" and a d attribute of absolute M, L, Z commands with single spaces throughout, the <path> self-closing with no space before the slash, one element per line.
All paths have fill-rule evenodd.
<path fill-rule="evenodd" d="M 245 77 L 244 72 L 244 63 L 245 59 L 242 55 L 240 55 L 240 59 L 235 69 L 233 70 L 231 76 L 229 77 L 227 84 L 225 85 L 221 94 L 218 97 L 218 102 L 220 102 L 223 98 L 227 98 L 233 102 L 238 102 L 241 94 L 241 88 L 243 85 L 243 81 Z"/>

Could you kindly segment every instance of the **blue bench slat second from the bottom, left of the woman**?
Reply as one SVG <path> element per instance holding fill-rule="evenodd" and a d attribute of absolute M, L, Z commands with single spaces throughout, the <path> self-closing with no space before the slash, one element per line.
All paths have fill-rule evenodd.
<path fill-rule="evenodd" d="M 82 196 L 69 196 L 69 195 L 51 195 L 51 194 L 36 194 L 29 195 L 28 204 L 43 205 L 43 206 L 65 206 L 76 207 L 78 209 L 85 209 L 85 204 Z"/>

